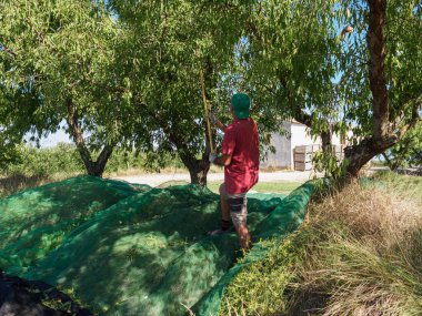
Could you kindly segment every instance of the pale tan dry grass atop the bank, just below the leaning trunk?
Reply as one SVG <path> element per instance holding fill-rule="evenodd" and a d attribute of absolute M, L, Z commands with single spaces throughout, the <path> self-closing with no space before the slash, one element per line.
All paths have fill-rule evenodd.
<path fill-rule="evenodd" d="M 386 251 L 406 243 L 409 234 L 421 227 L 422 205 L 412 195 L 385 185 L 350 184 L 323 203 L 311 204 L 307 220 L 318 226 L 339 222 L 351 237 L 376 243 Z"/>

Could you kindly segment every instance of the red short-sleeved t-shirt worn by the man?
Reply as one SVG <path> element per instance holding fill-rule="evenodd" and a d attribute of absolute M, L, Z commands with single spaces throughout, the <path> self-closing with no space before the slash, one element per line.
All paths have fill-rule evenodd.
<path fill-rule="evenodd" d="M 225 130 L 221 152 L 232 155 L 231 163 L 224 167 L 227 193 L 248 192 L 258 182 L 260 152 L 257 123 L 251 118 L 235 119 Z"/>

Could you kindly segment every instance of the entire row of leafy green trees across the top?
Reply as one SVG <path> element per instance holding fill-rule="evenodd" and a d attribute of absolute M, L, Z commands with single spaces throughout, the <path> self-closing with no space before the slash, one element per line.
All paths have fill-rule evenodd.
<path fill-rule="evenodd" d="M 114 146 L 135 145 L 151 160 L 178 154 L 191 181 L 205 184 L 210 143 L 221 135 L 207 133 L 202 85 L 225 118 L 230 95 L 245 91 L 263 143 L 284 120 L 307 124 L 326 147 L 333 132 L 351 130 L 344 170 L 355 176 L 419 121 L 421 7 L 1 1 L 0 126 L 14 143 L 66 120 L 90 174 L 102 174 Z"/>

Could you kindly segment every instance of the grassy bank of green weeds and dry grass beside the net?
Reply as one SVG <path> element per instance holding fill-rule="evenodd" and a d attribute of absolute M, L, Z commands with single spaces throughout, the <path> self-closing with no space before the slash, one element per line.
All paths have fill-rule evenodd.
<path fill-rule="evenodd" d="M 381 179 L 312 202 L 300 231 L 238 275 L 220 314 L 422 315 L 422 179 Z"/>

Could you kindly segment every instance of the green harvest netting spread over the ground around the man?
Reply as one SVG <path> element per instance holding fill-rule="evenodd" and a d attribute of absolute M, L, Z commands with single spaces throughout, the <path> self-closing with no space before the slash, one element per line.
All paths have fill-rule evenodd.
<path fill-rule="evenodd" d="M 311 191 L 249 195 L 254 239 L 294 230 Z M 184 315 L 184 306 L 215 315 L 230 279 L 265 253 L 257 243 L 234 265 L 234 232 L 207 236 L 218 208 L 219 196 L 194 185 L 89 176 L 49 184 L 0 200 L 0 268 L 72 293 L 100 315 Z"/>

